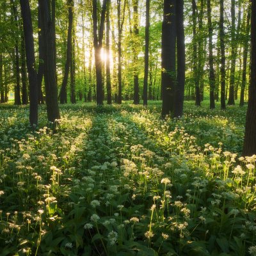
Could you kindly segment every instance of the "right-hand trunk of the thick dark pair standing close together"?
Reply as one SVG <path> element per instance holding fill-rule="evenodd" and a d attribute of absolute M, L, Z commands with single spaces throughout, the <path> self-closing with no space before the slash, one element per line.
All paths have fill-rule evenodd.
<path fill-rule="evenodd" d="M 185 88 L 185 34 L 184 34 L 184 0 L 176 3 L 177 22 L 177 84 L 175 88 L 174 117 L 183 115 Z"/>

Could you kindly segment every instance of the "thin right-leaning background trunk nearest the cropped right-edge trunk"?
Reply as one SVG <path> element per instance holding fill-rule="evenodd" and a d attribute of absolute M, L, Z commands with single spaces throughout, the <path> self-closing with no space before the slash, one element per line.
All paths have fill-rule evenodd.
<path fill-rule="evenodd" d="M 240 93 L 240 106 L 244 106 L 244 88 L 246 85 L 246 71 L 247 71 L 247 58 L 248 58 L 248 49 L 249 49 L 249 42 L 248 42 L 248 36 L 250 34 L 250 18 L 251 18 L 251 12 L 250 7 L 248 8 L 247 12 L 247 19 L 246 19 L 246 35 L 244 37 L 243 42 L 243 74 L 242 74 L 242 84 L 241 84 L 241 93 Z"/>

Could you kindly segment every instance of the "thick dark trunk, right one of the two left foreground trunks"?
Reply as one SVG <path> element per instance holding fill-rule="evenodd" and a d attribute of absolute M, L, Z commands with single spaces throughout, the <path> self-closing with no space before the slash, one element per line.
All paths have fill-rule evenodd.
<path fill-rule="evenodd" d="M 42 42 L 44 48 L 44 81 L 47 118 L 51 122 L 60 119 L 58 89 L 55 79 L 52 17 L 49 0 L 39 0 L 42 17 Z"/>

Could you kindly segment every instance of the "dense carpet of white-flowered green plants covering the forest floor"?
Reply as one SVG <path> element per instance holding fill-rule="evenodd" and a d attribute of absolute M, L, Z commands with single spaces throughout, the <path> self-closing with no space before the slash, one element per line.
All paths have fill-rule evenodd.
<path fill-rule="evenodd" d="M 0 107 L 0 255 L 256 255 L 245 108 Z"/>

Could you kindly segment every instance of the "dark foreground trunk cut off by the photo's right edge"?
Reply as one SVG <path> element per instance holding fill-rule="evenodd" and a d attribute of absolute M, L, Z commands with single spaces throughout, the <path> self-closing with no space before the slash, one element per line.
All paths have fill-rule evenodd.
<path fill-rule="evenodd" d="M 251 83 L 249 87 L 249 100 L 246 115 L 243 155 L 256 154 L 256 1 L 252 0 L 251 11 Z"/>

